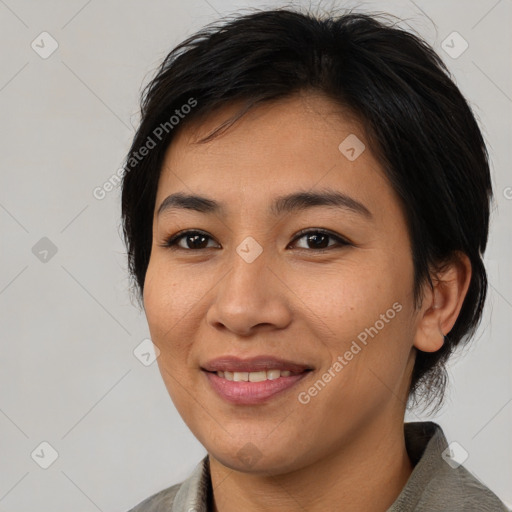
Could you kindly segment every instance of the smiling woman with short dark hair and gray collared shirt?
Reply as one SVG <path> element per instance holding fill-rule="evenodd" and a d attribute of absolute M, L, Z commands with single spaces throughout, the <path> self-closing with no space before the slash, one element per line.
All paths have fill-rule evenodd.
<path fill-rule="evenodd" d="M 441 428 L 481 317 L 486 148 L 441 60 L 376 17 L 210 26 L 145 91 L 130 270 L 208 455 L 140 511 L 498 511 Z"/>

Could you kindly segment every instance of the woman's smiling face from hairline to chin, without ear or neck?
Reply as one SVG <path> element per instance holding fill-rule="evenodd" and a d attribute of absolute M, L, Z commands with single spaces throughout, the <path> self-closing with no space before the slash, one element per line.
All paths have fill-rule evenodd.
<path fill-rule="evenodd" d="M 197 142 L 233 108 L 185 127 L 166 153 L 144 307 L 165 385 L 210 456 L 279 474 L 401 428 L 411 247 L 396 194 L 339 107 L 294 96 Z"/>

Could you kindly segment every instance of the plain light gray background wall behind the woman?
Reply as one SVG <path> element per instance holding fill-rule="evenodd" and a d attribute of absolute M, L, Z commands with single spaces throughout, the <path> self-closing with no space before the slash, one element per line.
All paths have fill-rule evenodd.
<path fill-rule="evenodd" d="M 331 4 L 406 18 L 481 121 L 496 194 L 489 301 L 435 419 L 469 453 L 465 466 L 510 504 L 512 1 L 322 5 Z M 0 0 L 0 511 L 124 511 L 204 455 L 156 363 L 133 354 L 149 333 L 128 293 L 119 189 L 103 200 L 93 190 L 120 167 L 140 87 L 167 52 L 223 13 L 270 5 L 282 4 Z M 59 44 L 47 59 L 31 48 L 43 31 Z M 453 31 L 469 44 L 457 59 L 441 47 Z M 57 247 L 46 262 L 32 252 L 43 237 Z M 31 458 L 43 441 L 59 454 L 48 469 Z"/>

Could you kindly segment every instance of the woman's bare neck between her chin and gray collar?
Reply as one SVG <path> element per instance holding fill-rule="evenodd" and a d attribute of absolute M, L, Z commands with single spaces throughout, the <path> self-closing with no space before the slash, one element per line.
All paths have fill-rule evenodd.
<path fill-rule="evenodd" d="M 385 512 L 412 472 L 401 422 L 370 425 L 329 456 L 281 475 L 232 470 L 210 455 L 215 512 Z"/>

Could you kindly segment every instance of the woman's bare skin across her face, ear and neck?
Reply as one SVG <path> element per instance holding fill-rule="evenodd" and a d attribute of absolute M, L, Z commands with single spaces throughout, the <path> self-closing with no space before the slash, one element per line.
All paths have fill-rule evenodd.
<path fill-rule="evenodd" d="M 165 156 L 144 287 L 163 380 L 210 455 L 216 511 L 385 511 L 413 469 L 403 420 L 416 350 L 441 347 L 467 291 L 469 263 L 454 259 L 415 309 L 405 217 L 359 123 L 331 100 L 302 93 L 256 107 L 197 142 L 237 108 L 185 125 Z M 338 149 L 349 134 L 366 144 L 354 161 Z M 268 211 L 276 196 L 324 188 L 359 201 L 371 218 L 332 206 L 278 217 Z M 158 216 L 175 192 L 215 199 L 225 210 Z M 327 238 L 320 251 L 307 236 L 296 239 L 306 228 L 350 244 Z M 186 229 L 206 232 L 207 248 L 190 249 L 186 238 L 165 247 Z M 251 263 L 236 251 L 249 236 L 263 249 Z M 300 403 L 299 393 L 394 303 L 400 312 Z M 258 405 L 227 403 L 200 370 L 222 355 L 262 354 L 314 370 Z"/>

